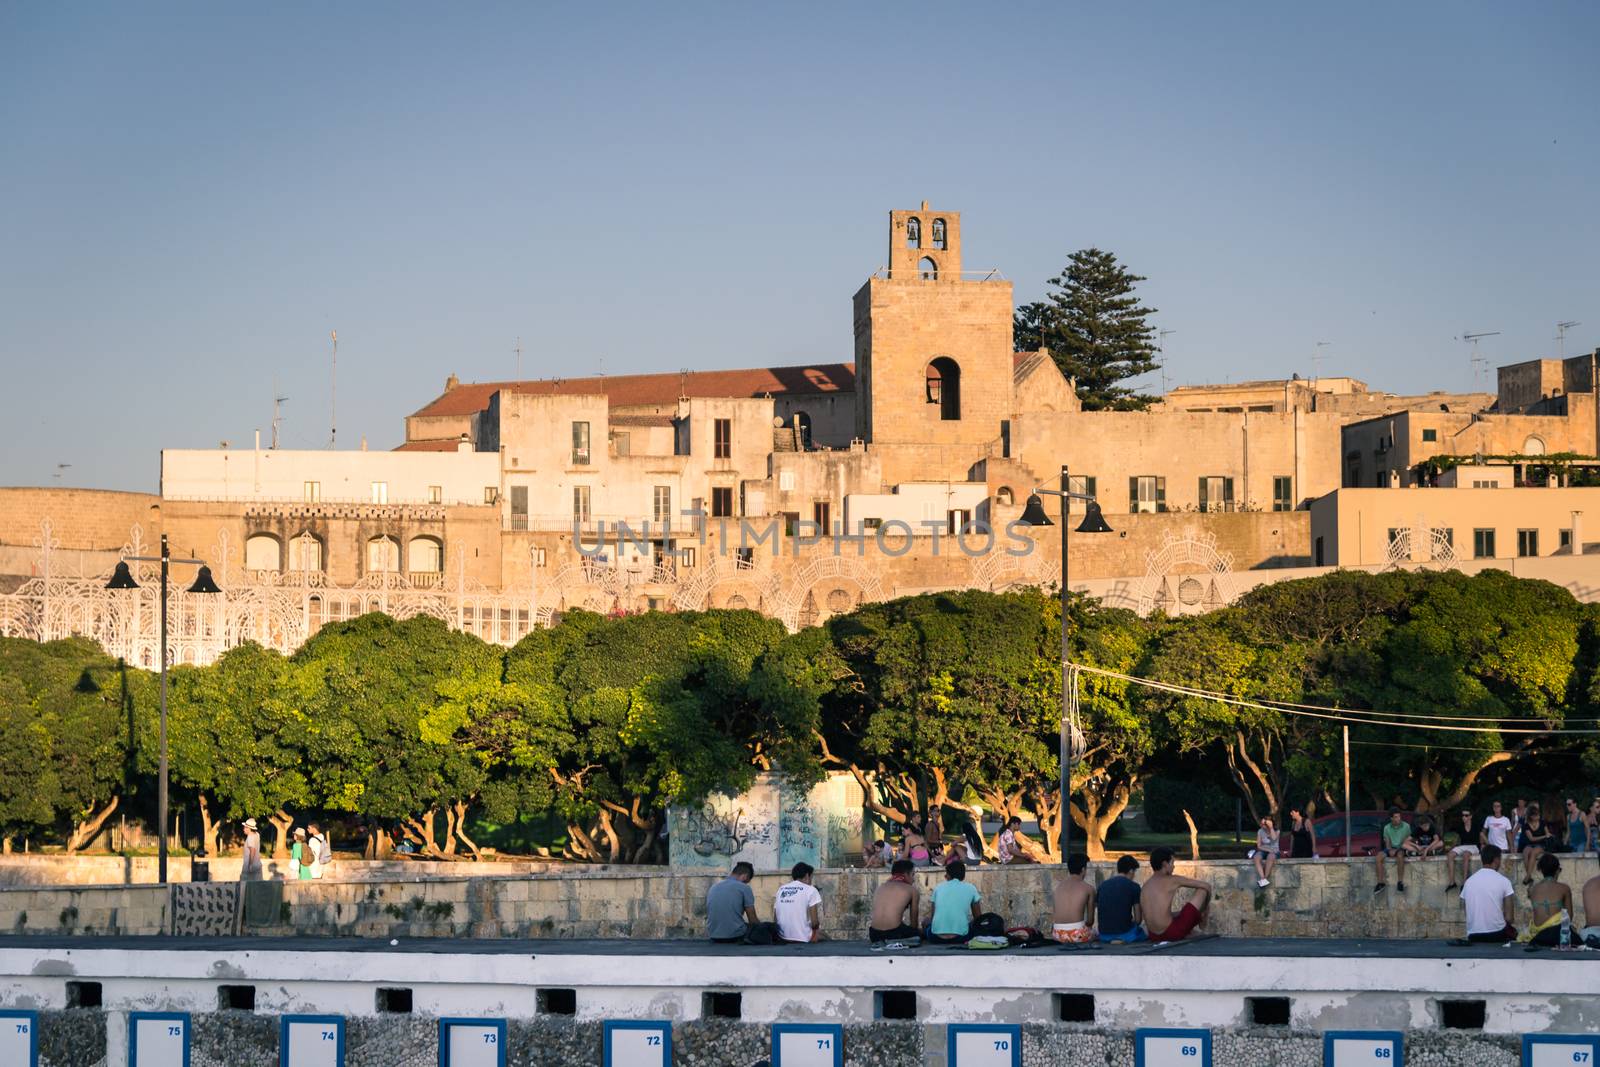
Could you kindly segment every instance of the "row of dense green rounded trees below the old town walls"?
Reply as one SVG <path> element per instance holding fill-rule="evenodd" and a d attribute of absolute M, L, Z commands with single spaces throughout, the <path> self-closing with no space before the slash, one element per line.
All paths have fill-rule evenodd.
<path fill-rule="evenodd" d="M 1040 592 L 912 597 L 789 635 L 749 611 L 571 613 L 515 648 L 427 617 L 323 627 L 296 654 L 246 645 L 171 675 L 171 766 L 221 819 L 326 811 L 395 827 L 435 857 L 478 856 L 470 825 L 557 813 L 573 856 L 659 859 L 669 805 L 762 769 L 848 771 L 886 821 L 976 811 L 1061 819 L 1061 613 Z M 1245 699 L 1434 715 L 1453 733 L 1362 725 L 1373 803 L 1443 809 L 1496 765 L 1584 761 L 1600 715 L 1600 606 L 1499 571 L 1334 573 L 1235 606 L 1141 619 L 1074 601 L 1075 659 Z M 1085 675 L 1088 750 L 1070 814 L 1099 854 L 1141 784 L 1173 760 L 1227 768 L 1253 814 L 1322 801 L 1339 725 Z M 1502 720 L 1506 733 L 1491 721 Z M 1418 720 L 1422 721 L 1422 720 Z M 1573 723 L 1589 726 L 1592 723 Z M 82 848 L 147 781 L 155 683 L 96 646 L 0 641 L 0 837 Z M 1358 801 L 1360 803 L 1360 801 Z"/>

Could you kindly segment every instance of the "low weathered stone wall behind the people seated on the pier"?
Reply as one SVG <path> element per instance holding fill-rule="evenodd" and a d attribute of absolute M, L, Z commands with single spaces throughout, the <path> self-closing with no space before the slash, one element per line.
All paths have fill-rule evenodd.
<path fill-rule="evenodd" d="M 1371 861 L 1291 861 L 1278 865 L 1274 885 L 1258 891 L 1243 862 L 1179 864 L 1179 873 L 1214 888 L 1210 929 L 1245 937 L 1454 937 L 1462 929 L 1458 894 L 1445 893 L 1443 861 L 1413 864 L 1405 894 L 1373 893 Z M 477 873 L 467 865 L 450 867 Z M 1091 869 L 1093 880 L 1110 877 L 1109 864 Z M 1600 873 L 1595 857 L 1563 857 L 1563 878 L 1576 886 Z M 706 889 L 717 872 L 661 867 L 566 867 L 525 877 L 414 877 L 405 881 L 264 881 L 253 883 L 240 905 L 246 934 L 344 934 L 365 937 L 701 937 Z M 821 870 L 824 931 L 832 937 L 864 937 L 872 891 L 882 872 Z M 923 899 L 942 878 L 920 872 Z M 1058 867 L 971 869 L 968 880 L 984 909 L 1010 925 L 1048 928 L 1050 888 Z M 771 901 L 787 875 L 757 875 L 757 909 L 771 917 Z M 1518 920 L 1526 917 L 1526 891 L 1518 889 Z M 102 886 L 0 889 L 0 931 L 11 933 L 166 933 L 218 931 L 195 926 L 190 912 L 232 909 L 235 897 L 218 886 Z M 226 915 L 222 917 L 227 918 Z M 1578 917 L 1574 917 L 1578 918 Z M 224 921 L 226 925 L 226 921 Z"/>

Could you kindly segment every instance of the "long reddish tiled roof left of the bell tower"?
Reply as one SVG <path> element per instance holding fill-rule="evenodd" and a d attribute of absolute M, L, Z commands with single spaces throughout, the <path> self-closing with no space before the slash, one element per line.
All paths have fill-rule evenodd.
<path fill-rule="evenodd" d="M 445 392 L 413 413 L 413 418 L 459 416 L 483 411 L 496 392 L 536 397 L 605 394 L 613 408 L 675 405 L 685 397 L 763 397 L 854 392 L 854 363 L 810 366 L 762 366 L 741 371 L 690 371 L 686 374 L 606 374 L 602 378 L 546 378 L 520 382 L 467 382 Z"/>

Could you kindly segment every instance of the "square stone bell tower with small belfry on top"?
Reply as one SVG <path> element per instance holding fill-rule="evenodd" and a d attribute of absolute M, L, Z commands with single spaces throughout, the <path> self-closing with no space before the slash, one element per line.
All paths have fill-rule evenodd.
<path fill-rule="evenodd" d="M 971 274 L 962 214 L 923 200 L 890 211 L 888 269 L 854 298 L 856 434 L 930 446 L 906 480 L 965 477 L 973 446 L 998 442 L 1011 416 L 1011 283 Z"/>

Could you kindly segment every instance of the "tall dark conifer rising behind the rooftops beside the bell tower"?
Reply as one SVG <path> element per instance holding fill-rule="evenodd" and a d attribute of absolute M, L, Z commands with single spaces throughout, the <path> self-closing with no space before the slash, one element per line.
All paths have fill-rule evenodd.
<path fill-rule="evenodd" d="M 1157 368 L 1155 326 L 1147 322 L 1155 309 L 1134 296 L 1139 282 L 1109 251 L 1072 253 L 1045 299 L 1016 309 L 1016 350 L 1050 349 L 1061 373 L 1077 381 L 1085 411 L 1149 406 L 1155 397 L 1118 386 Z"/>

